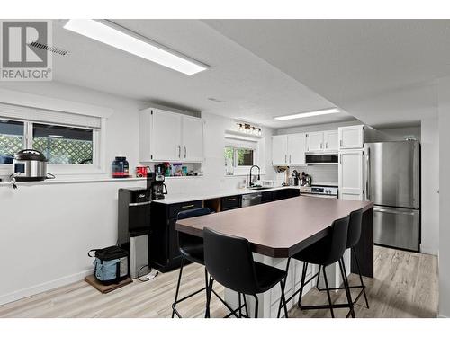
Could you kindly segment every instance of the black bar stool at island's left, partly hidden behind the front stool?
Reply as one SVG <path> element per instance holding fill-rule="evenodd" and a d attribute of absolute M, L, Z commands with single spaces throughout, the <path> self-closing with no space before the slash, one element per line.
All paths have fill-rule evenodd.
<path fill-rule="evenodd" d="M 189 218 L 189 217 L 201 217 L 211 214 L 211 210 L 209 208 L 195 208 L 190 210 L 185 210 L 183 212 L 178 213 L 178 220 Z M 181 283 L 181 275 L 183 273 L 184 262 L 187 260 L 189 262 L 199 263 L 204 265 L 204 254 L 203 254 L 203 239 L 198 236 L 188 235 L 182 232 L 178 232 L 178 245 L 181 253 L 181 266 L 180 273 L 178 275 L 178 282 L 176 284 L 176 292 L 175 292 L 175 301 L 172 304 L 172 318 L 174 318 L 175 314 L 178 317 L 182 317 L 178 310 L 176 310 L 176 305 L 180 302 L 183 302 L 185 299 L 193 297 L 198 293 L 205 291 L 206 299 L 208 299 L 208 271 L 206 268 L 204 269 L 204 281 L 205 287 L 194 291 L 193 293 L 178 299 L 178 293 L 180 291 L 180 283 Z M 229 311 L 233 311 L 233 309 L 212 289 L 212 292 L 216 297 L 220 299 L 220 301 L 228 307 Z M 209 317 L 209 307 L 206 307 L 205 317 Z"/>

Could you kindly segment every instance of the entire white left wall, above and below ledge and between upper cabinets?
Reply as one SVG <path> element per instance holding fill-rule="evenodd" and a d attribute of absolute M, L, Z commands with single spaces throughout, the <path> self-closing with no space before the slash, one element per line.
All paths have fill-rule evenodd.
<path fill-rule="evenodd" d="M 130 171 L 139 164 L 138 112 L 150 104 L 54 82 L 0 87 L 112 108 L 106 125 L 108 170 L 116 155 L 127 156 Z M 232 128 L 233 121 L 212 114 L 202 117 L 206 120 L 204 176 L 166 180 L 169 194 L 238 186 L 241 178 L 224 176 L 224 132 Z M 272 132 L 263 129 L 267 135 L 264 162 L 269 164 Z M 267 167 L 270 176 L 274 171 Z M 83 279 L 92 272 L 87 251 L 117 240 L 117 190 L 138 186 L 145 187 L 146 182 L 32 184 L 16 191 L 0 184 L 0 256 L 4 257 L 2 270 L 7 270 L 0 278 L 0 304 Z"/>

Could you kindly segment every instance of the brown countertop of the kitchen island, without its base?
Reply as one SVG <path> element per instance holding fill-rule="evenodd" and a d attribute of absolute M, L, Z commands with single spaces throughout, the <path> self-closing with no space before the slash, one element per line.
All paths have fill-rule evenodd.
<path fill-rule="evenodd" d="M 202 236 L 202 229 L 210 227 L 223 234 L 247 238 L 256 253 L 289 257 L 327 235 L 334 220 L 373 206 L 371 201 L 300 196 L 178 220 L 176 230 Z"/>

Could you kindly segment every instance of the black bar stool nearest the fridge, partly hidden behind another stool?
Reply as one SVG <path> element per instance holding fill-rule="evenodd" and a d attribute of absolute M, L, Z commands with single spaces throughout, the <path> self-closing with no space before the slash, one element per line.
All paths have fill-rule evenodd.
<path fill-rule="evenodd" d="M 365 306 L 367 309 L 369 308 L 369 301 L 367 300 L 367 295 L 365 294 L 365 284 L 363 281 L 363 276 L 361 275 L 361 270 L 359 269 L 359 262 L 358 257 L 356 255 L 355 246 L 359 242 L 359 239 L 361 238 L 361 230 L 363 226 L 363 208 L 355 210 L 350 213 L 350 222 L 348 224 L 348 234 L 347 234 L 347 249 L 350 249 L 353 252 L 353 256 L 355 257 L 356 262 L 356 268 L 358 269 L 359 274 L 359 280 L 361 281 L 360 286 L 349 286 L 348 288 L 361 288 L 361 291 L 359 292 L 356 299 L 353 301 L 353 304 L 356 305 L 356 302 L 358 301 L 359 297 L 364 294 L 365 296 Z M 344 271 L 346 272 L 346 279 L 347 279 L 347 270 L 346 266 L 344 265 Z M 319 288 L 319 279 L 320 279 L 320 270 L 319 270 L 319 277 L 317 279 L 317 288 L 320 291 L 324 291 L 325 289 Z M 348 284 L 348 279 L 347 279 Z M 330 288 L 330 290 L 340 290 L 344 289 L 344 287 L 339 288 Z"/>

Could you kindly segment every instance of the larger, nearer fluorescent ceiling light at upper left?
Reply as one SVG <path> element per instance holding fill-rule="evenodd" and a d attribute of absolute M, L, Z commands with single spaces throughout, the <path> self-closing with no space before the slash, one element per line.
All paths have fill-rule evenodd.
<path fill-rule="evenodd" d="M 69 20 L 64 28 L 88 38 L 100 41 L 130 54 L 146 58 L 164 67 L 169 67 L 185 75 L 193 75 L 208 69 L 208 66 L 188 58 L 175 50 L 168 49 L 133 31 L 129 31 L 110 21 L 76 19 Z"/>

